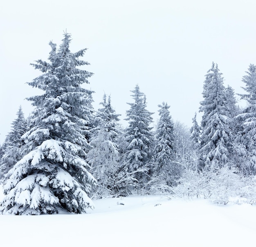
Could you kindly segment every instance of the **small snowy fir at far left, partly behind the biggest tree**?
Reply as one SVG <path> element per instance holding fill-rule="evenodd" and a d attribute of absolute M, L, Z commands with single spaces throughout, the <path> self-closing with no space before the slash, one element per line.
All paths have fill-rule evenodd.
<path fill-rule="evenodd" d="M 20 106 L 17 118 L 11 123 L 11 132 L 5 138 L 3 144 L 3 155 L 0 159 L 0 180 L 4 180 L 5 175 L 22 158 L 24 140 L 22 135 L 27 131 L 27 122 Z"/>

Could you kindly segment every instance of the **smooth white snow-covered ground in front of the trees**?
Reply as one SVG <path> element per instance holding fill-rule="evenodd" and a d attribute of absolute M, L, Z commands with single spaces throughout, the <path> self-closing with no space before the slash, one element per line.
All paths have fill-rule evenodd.
<path fill-rule="evenodd" d="M 0 215 L 0 246 L 256 246 L 256 207 L 250 204 L 219 206 L 159 196 L 94 204 L 94 211 L 83 215 Z"/>

